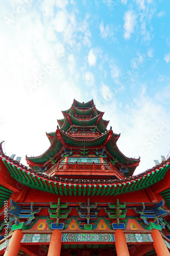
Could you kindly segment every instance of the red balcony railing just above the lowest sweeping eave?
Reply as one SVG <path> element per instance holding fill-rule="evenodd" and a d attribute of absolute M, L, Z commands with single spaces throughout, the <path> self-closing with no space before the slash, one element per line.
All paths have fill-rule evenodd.
<path fill-rule="evenodd" d="M 99 173 L 110 173 L 110 175 L 117 174 L 119 178 L 124 178 L 124 174 L 122 174 L 115 166 L 113 166 L 111 163 L 60 163 L 60 161 L 52 167 L 50 170 L 46 172 L 48 175 L 52 175 L 56 172 L 64 174 L 64 172 L 75 172 L 75 173 L 85 173 L 85 172 L 97 172 Z M 111 174 L 112 173 L 112 174 Z"/>

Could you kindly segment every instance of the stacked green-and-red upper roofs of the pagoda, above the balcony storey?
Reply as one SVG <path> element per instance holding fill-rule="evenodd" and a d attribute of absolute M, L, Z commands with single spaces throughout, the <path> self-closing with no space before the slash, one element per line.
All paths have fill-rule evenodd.
<path fill-rule="evenodd" d="M 41 156 L 26 158 L 30 167 L 36 170 L 49 169 L 53 164 L 52 158 L 53 162 L 63 158 L 64 148 L 72 151 L 72 155 L 81 155 L 78 147 L 85 147 L 86 151 L 91 150 L 93 157 L 99 157 L 95 152 L 103 151 L 108 163 L 115 162 L 114 167 L 118 170 L 126 170 L 125 176 L 133 175 L 140 160 L 128 158 L 119 151 L 116 142 L 120 134 L 113 133 L 111 129 L 107 130 L 109 121 L 103 119 L 104 112 L 95 108 L 93 100 L 87 103 L 74 100 L 71 108 L 62 111 L 62 114 L 64 118 L 58 120 L 56 132 L 46 133 L 51 143 L 48 150 Z"/>

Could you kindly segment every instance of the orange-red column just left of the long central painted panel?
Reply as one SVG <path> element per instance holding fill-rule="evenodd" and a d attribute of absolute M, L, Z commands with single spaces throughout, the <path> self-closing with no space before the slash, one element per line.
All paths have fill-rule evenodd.
<path fill-rule="evenodd" d="M 54 230 L 50 240 L 47 256 L 60 256 L 61 251 L 61 231 Z"/>

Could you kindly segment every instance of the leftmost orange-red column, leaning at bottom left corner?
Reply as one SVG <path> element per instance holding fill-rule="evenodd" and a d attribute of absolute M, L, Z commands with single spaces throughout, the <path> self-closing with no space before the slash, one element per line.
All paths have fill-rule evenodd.
<path fill-rule="evenodd" d="M 21 230 L 15 230 L 12 234 L 11 240 L 8 245 L 8 251 L 5 252 L 4 256 L 17 256 L 20 248 L 20 241 L 23 233 Z"/>

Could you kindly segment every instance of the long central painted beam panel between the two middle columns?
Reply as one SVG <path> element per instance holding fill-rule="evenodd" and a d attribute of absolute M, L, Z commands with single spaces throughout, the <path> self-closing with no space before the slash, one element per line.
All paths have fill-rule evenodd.
<path fill-rule="evenodd" d="M 114 234 L 65 233 L 62 242 L 115 242 Z"/>

